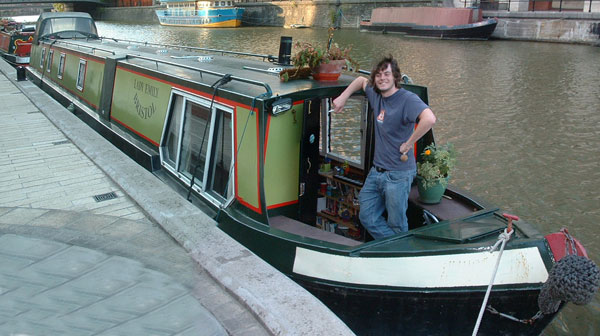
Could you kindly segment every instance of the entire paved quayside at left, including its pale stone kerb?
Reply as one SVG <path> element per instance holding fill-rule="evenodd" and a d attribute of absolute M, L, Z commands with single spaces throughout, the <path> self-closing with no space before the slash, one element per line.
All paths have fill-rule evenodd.
<path fill-rule="evenodd" d="M 78 119 L 51 121 L 67 111 L 2 60 L 0 70 L 0 334 L 352 334 Z M 123 171 L 135 179 L 116 181 Z M 152 192 L 173 209 L 144 199 Z M 287 294 L 268 297 L 274 288 Z"/>

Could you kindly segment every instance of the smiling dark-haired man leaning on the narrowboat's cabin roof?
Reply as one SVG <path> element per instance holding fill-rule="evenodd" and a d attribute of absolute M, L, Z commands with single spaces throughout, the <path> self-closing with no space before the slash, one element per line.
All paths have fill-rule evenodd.
<path fill-rule="evenodd" d="M 401 88 L 400 80 L 397 61 L 388 56 L 373 69 L 370 79 L 356 78 L 333 101 L 334 112 L 340 112 L 348 98 L 362 89 L 373 108 L 375 156 L 359 201 L 360 221 L 375 239 L 408 231 L 408 194 L 417 168 L 414 155 L 407 153 L 436 121 L 429 106 Z"/>

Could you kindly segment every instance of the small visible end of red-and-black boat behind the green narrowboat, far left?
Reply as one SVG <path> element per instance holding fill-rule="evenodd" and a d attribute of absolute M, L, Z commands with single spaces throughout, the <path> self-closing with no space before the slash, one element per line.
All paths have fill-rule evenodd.
<path fill-rule="evenodd" d="M 0 27 L 0 56 L 13 66 L 29 64 L 33 27 L 23 28 L 16 22 L 3 22 Z"/>

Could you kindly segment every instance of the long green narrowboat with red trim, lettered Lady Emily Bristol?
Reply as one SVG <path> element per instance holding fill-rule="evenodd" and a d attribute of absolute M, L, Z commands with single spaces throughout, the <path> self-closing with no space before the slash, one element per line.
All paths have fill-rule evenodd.
<path fill-rule="evenodd" d="M 52 24 L 64 17 L 71 26 Z M 479 335 L 539 334 L 562 305 L 540 314 L 538 296 L 574 241 L 524 221 L 507 231 L 513 216 L 453 187 L 439 204 L 413 190 L 410 230 L 371 239 L 357 194 L 372 162 L 372 110 L 356 94 L 330 113 L 349 74 L 281 81 L 291 44 L 281 45 L 278 57 L 169 48 L 98 38 L 89 15 L 44 13 L 28 77 L 357 334 L 470 333 L 488 288 Z M 428 101 L 426 87 L 403 87 Z M 343 132 L 356 141 L 341 143 Z M 429 132 L 415 155 L 433 141 Z M 510 239 L 494 251 L 503 232 Z"/>

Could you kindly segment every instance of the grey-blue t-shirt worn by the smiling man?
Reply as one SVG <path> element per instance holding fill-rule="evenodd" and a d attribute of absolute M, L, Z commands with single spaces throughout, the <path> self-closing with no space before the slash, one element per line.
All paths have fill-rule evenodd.
<path fill-rule="evenodd" d="M 419 96 L 402 88 L 389 97 L 382 97 L 367 85 L 365 93 L 373 108 L 375 124 L 373 164 L 387 170 L 416 169 L 412 151 L 407 153 L 407 161 L 400 160 L 400 145 L 411 136 L 417 118 L 429 106 Z"/>

